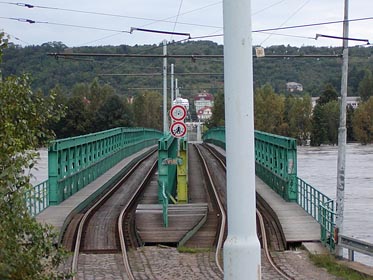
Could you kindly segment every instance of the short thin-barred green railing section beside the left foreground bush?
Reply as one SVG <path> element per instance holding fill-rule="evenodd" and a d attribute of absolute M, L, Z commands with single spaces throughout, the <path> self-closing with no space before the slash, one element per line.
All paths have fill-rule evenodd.
<path fill-rule="evenodd" d="M 48 189 L 49 183 L 45 180 L 25 193 L 26 206 L 31 216 L 36 216 L 49 206 Z"/>

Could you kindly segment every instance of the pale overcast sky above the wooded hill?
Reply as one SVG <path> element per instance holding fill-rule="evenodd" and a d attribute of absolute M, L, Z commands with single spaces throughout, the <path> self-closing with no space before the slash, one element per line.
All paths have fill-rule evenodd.
<path fill-rule="evenodd" d="M 69 47 L 159 44 L 186 36 L 128 32 L 131 27 L 189 33 L 192 38 L 223 33 L 222 1 L 214 0 L 25 0 L 0 1 L 0 30 L 20 45 L 60 41 Z M 227 0 L 228 1 L 228 0 Z M 234 1 L 234 0 L 230 0 Z M 12 4 L 13 3 L 13 4 Z M 24 3 L 34 8 L 14 5 Z M 343 20 L 344 0 L 251 0 L 253 31 Z M 80 12 L 78 12 L 80 11 Z M 105 15 L 104 15 L 105 14 Z M 249 16 L 249 15 L 248 15 Z M 353 0 L 349 18 L 373 17 L 372 0 Z M 33 20 L 30 24 L 25 20 Z M 83 28 L 84 27 L 84 28 Z M 350 38 L 373 42 L 373 19 L 350 23 Z M 106 30 L 105 30 L 106 29 Z M 253 45 L 341 46 L 342 23 L 253 33 Z M 223 37 L 210 37 L 219 44 Z M 349 45 L 363 42 L 350 41 Z"/>

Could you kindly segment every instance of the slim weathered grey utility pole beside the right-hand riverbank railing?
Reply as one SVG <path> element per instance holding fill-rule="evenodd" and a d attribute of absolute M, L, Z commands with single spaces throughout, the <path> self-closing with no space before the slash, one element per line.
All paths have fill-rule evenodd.
<path fill-rule="evenodd" d="M 337 170 L 337 199 L 336 199 L 336 231 L 343 232 L 343 211 L 345 192 L 345 169 L 346 169 L 346 98 L 348 81 L 348 0 L 344 2 L 343 21 L 343 58 L 342 58 L 342 81 L 341 81 L 341 103 L 338 129 L 338 170 Z M 336 240 L 338 242 L 338 240 Z M 342 247 L 336 246 L 335 254 L 343 257 Z"/>

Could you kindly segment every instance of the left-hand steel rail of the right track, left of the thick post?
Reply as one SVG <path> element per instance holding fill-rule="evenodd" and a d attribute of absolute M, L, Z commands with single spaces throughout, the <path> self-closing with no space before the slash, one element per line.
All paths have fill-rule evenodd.
<path fill-rule="evenodd" d="M 211 188 L 212 188 L 212 190 L 214 192 L 215 199 L 216 199 L 216 201 L 218 203 L 219 211 L 221 213 L 221 224 L 220 224 L 220 230 L 219 230 L 218 243 L 216 244 L 215 262 L 216 262 L 216 265 L 217 265 L 218 269 L 220 270 L 220 272 L 222 274 L 224 274 L 224 270 L 221 267 L 220 262 L 219 262 L 219 256 L 220 256 L 221 250 L 223 248 L 223 241 L 224 241 L 224 235 L 225 235 L 225 226 L 226 226 L 226 223 L 227 223 L 227 215 L 225 213 L 224 205 L 223 205 L 223 203 L 220 200 L 220 196 L 218 194 L 218 191 L 216 190 L 216 187 L 215 187 L 214 181 L 212 179 L 210 170 L 209 170 L 209 168 L 207 166 L 207 162 L 206 162 L 205 158 L 202 156 L 202 153 L 201 153 L 201 150 L 199 149 L 199 147 L 197 145 L 195 145 L 195 147 L 196 147 L 196 149 L 198 151 L 198 154 L 201 157 L 201 160 L 202 160 L 203 165 L 205 167 L 205 171 L 206 171 L 207 176 L 209 178 L 209 181 L 210 181 L 210 184 L 211 184 Z"/>

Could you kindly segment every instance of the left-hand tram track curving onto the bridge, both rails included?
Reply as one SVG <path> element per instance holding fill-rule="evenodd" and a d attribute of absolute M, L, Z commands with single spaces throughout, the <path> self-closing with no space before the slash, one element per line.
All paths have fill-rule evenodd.
<path fill-rule="evenodd" d="M 71 272 L 75 275 L 73 279 L 89 278 L 81 273 L 80 266 L 84 267 L 90 259 L 93 260 L 91 263 L 97 262 L 100 256 L 116 262 L 121 279 L 135 279 L 128 261 L 127 246 L 136 246 L 136 240 L 130 232 L 133 219 L 128 221 L 127 215 L 134 211 L 136 199 L 154 173 L 156 163 L 156 153 L 139 161 L 86 209 L 84 215 L 77 216 L 79 222 L 74 222 L 76 232 L 69 230 L 69 236 L 64 236 L 64 239 L 75 240 L 71 264 Z"/>

